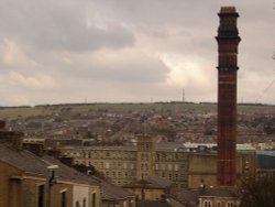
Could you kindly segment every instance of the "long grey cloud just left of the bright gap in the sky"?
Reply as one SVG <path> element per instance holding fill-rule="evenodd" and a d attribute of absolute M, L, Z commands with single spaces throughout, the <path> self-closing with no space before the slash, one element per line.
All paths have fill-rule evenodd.
<path fill-rule="evenodd" d="M 157 58 L 133 51 L 108 51 L 112 55 L 84 55 L 82 58 L 72 57 L 72 65 L 59 68 L 63 76 L 68 73 L 77 78 L 123 83 L 163 83 L 169 69 Z M 118 54 L 116 54 L 118 53 Z"/>

